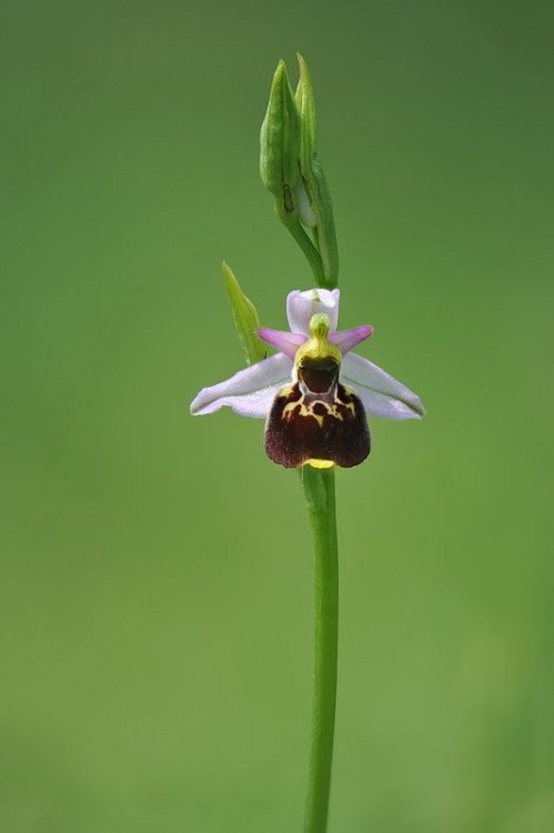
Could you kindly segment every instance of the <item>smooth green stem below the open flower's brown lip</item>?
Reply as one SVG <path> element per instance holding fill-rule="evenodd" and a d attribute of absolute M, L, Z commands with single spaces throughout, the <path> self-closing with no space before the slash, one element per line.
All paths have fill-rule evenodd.
<path fill-rule="evenodd" d="M 333 760 L 339 634 L 334 471 L 304 465 L 302 485 L 313 533 L 315 576 L 312 745 L 304 833 L 325 833 Z"/>

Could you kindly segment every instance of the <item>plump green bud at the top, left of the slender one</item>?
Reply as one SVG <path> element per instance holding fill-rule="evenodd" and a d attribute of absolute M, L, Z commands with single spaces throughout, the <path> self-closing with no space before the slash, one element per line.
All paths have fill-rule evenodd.
<path fill-rule="evenodd" d="M 280 213 L 284 210 L 289 215 L 298 213 L 300 142 L 299 111 L 286 67 L 279 61 L 260 134 L 260 174 L 265 188 L 280 202 Z"/>

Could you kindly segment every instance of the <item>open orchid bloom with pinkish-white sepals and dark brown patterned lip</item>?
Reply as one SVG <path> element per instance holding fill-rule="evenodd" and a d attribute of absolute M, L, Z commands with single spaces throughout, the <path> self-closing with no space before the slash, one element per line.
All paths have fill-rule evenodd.
<path fill-rule="evenodd" d="M 191 413 L 226 405 L 242 416 L 266 419 L 268 455 L 288 469 L 357 465 L 370 453 L 367 415 L 421 419 L 425 409 L 415 393 L 351 352 L 373 328 L 339 331 L 339 302 L 338 289 L 290 292 L 290 332 L 258 330 L 279 352 L 201 390 Z"/>

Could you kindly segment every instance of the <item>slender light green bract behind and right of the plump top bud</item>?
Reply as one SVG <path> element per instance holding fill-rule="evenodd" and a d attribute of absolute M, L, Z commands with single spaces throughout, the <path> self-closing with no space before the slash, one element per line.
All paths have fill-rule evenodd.
<path fill-rule="evenodd" d="M 316 244 L 325 279 L 331 285 L 336 285 L 339 249 L 331 194 L 316 151 L 315 104 L 312 81 L 306 62 L 301 54 L 296 57 L 300 68 L 300 80 L 295 93 L 301 122 L 300 170 L 303 190 L 308 199 L 308 207 L 302 197 L 299 200 L 300 217 L 304 225 L 315 227 Z M 299 191 L 300 188 L 296 190 Z"/>

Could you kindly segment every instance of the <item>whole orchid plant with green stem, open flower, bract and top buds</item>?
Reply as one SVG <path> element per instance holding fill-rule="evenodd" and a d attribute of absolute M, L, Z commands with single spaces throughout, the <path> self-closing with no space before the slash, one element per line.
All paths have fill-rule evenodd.
<path fill-rule="evenodd" d="M 201 390 L 191 412 L 201 415 L 226 407 L 242 416 L 265 419 L 270 459 L 301 470 L 314 552 L 313 707 L 303 830 L 326 833 L 339 645 L 334 466 L 351 468 L 369 455 L 369 416 L 420 419 L 425 409 L 402 382 L 352 352 L 370 338 L 372 327 L 338 330 L 339 250 L 332 200 L 319 155 L 312 81 L 302 56 L 298 60 L 294 92 L 284 61 L 273 76 L 260 133 L 260 174 L 318 289 L 289 293 L 289 331 L 261 328 L 255 308 L 223 263 L 233 320 L 250 367 Z M 264 344 L 278 352 L 266 358 Z"/>

